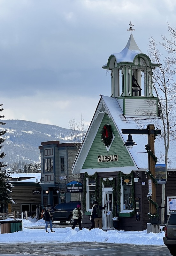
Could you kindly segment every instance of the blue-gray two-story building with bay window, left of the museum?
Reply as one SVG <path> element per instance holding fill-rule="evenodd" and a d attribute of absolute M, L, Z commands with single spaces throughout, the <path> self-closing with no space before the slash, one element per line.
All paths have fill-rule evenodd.
<path fill-rule="evenodd" d="M 66 193 L 66 184 L 79 181 L 79 174 L 72 175 L 71 169 L 80 145 L 55 140 L 41 144 L 42 205 L 55 206 L 62 202 L 79 201 L 80 193 Z"/>

